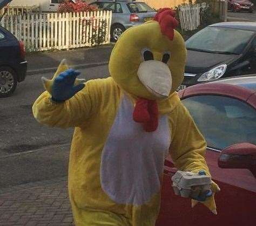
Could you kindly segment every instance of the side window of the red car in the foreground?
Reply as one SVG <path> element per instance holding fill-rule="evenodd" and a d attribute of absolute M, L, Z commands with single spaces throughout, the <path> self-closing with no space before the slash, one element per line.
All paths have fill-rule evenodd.
<path fill-rule="evenodd" d="M 198 95 L 182 102 L 208 147 L 222 150 L 241 142 L 256 145 L 256 110 L 245 102 L 217 95 Z"/>

